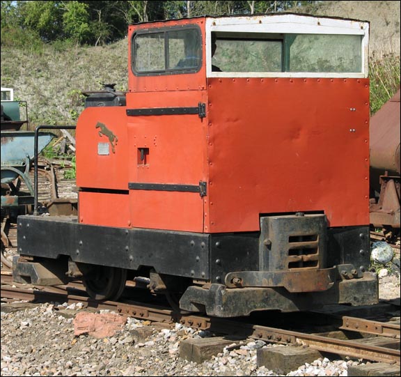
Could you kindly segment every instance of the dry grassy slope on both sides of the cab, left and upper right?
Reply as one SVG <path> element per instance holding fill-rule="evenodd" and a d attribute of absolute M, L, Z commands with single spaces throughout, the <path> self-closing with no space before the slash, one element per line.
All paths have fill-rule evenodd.
<path fill-rule="evenodd" d="M 320 15 L 370 21 L 370 54 L 400 54 L 400 3 L 398 1 L 323 1 Z M 399 63 L 398 63 L 399 64 Z M 1 86 L 12 87 L 29 106 L 32 125 L 74 124 L 83 109 L 81 91 L 116 83 L 127 90 L 127 39 L 107 46 L 72 47 L 42 52 L 3 47 Z"/>

